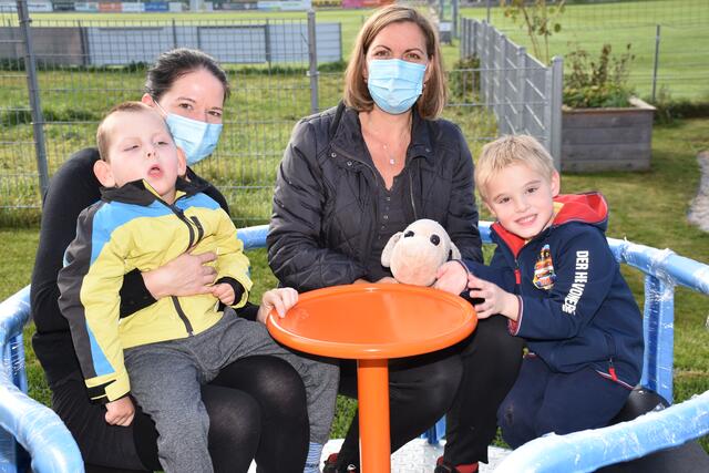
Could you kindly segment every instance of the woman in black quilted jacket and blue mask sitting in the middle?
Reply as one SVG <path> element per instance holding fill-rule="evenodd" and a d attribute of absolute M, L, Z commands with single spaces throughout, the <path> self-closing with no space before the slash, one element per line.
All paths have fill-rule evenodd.
<path fill-rule="evenodd" d="M 444 103 L 431 22 L 403 6 L 374 12 L 350 56 L 343 102 L 300 121 L 280 164 L 267 243 L 282 285 L 307 291 L 395 282 L 381 266 L 382 249 L 419 218 L 439 222 L 464 258 L 482 260 L 473 161 L 458 126 L 438 119 Z M 492 317 L 456 347 L 391 360 L 392 451 L 452 407 L 445 459 L 436 467 L 475 471 L 486 461 L 497 405 L 521 359 L 505 320 Z M 357 397 L 353 363 L 340 368 L 340 391 Z M 325 472 L 350 465 L 359 465 L 358 419 Z"/>

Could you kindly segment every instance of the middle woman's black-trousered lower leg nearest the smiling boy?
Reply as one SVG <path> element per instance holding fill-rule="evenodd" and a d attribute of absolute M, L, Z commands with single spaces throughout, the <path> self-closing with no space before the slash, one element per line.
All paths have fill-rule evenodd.
<path fill-rule="evenodd" d="M 487 445 L 497 433 L 497 408 L 517 377 L 523 347 L 523 339 L 507 332 L 502 316 L 479 320 L 473 335 L 455 347 L 463 377 L 445 417 L 446 462 L 487 462 Z"/>

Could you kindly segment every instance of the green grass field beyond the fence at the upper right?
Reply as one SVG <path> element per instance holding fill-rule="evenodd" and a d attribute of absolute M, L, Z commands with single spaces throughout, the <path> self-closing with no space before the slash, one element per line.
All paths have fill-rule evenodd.
<path fill-rule="evenodd" d="M 497 3 L 497 2 L 495 2 Z M 520 23 L 504 18 L 502 8 L 491 10 L 491 23 L 520 45 L 531 42 Z M 461 10 L 465 18 L 486 18 L 484 8 Z M 567 6 L 558 17 L 562 31 L 549 40 L 551 55 L 564 55 L 578 47 L 597 58 L 604 43 L 613 51 L 631 44 L 635 61 L 630 83 L 641 96 L 651 92 L 656 25 L 661 24 L 659 82 L 672 97 L 709 101 L 709 2 L 658 0 Z"/>

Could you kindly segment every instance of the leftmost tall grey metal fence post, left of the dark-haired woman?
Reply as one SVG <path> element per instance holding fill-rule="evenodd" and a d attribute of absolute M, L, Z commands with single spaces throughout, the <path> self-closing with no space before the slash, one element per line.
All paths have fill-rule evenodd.
<path fill-rule="evenodd" d="M 27 0 L 17 0 L 20 31 L 24 41 L 24 72 L 27 72 L 27 85 L 32 109 L 32 131 L 34 133 L 34 153 L 37 156 L 37 171 L 40 175 L 40 192 L 42 197 L 49 184 L 49 169 L 47 166 L 47 147 L 44 146 L 44 115 L 40 101 L 40 88 L 37 80 L 37 66 L 34 63 L 34 50 L 32 48 L 32 34 L 30 32 L 30 14 Z"/>

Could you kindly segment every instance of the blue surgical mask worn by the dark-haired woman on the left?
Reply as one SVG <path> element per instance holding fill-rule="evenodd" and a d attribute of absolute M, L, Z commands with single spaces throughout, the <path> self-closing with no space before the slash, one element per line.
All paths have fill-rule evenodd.
<path fill-rule="evenodd" d="M 201 122 L 176 113 L 167 113 L 155 99 L 153 101 L 167 115 L 165 123 L 167 123 L 175 144 L 185 152 L 189 166 L 214 153 L 222 134 L 223 125 L 220 123 Z"/>

